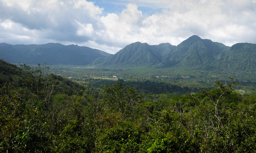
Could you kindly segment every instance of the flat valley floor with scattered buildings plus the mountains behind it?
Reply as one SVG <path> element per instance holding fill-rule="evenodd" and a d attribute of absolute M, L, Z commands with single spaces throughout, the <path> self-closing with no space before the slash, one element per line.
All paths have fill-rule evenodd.
<path fill-rule="evenodd" d="M 117 80 L 134 85 L 150 81 L 186 87 L 186 92 L 182 93 L 194 93 L 192 89 L 213 89 L 216 80 L 224 82 L 234 77 L 240 84 L 237 91 L 255 93 L 256 44 L 239 43 L 228 47 L 193 35 L 178 46 L 135 42 L 114 55 L 89 47 L 54 43 L 28 46 L 2 43 L 0 53 L 4 60 L 16 64 L 46 63 L 53 74 L 90 88 Z"/>

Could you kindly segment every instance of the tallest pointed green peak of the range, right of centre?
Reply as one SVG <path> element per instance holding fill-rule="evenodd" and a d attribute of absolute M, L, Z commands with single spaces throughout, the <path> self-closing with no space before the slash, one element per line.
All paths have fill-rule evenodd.
<path fill-rule="evenodd" d="M 174 48 L 171 55 L 163 60 L 163 66 L 174 69 L 211 69 L 211 63 L 219 59 L 229 47 L 224 44 L 191 36 Z"/>

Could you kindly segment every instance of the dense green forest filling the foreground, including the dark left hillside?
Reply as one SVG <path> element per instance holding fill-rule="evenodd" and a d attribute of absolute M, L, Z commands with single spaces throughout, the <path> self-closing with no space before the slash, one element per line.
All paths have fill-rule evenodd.
<path fill-rule="evenodd" d="M 234 78 L 213 86 L 180 96 L 120 81 L 89 89 L 0 60 L 0 151 L 255 152 L 256 95 L 233 91 Z"/>

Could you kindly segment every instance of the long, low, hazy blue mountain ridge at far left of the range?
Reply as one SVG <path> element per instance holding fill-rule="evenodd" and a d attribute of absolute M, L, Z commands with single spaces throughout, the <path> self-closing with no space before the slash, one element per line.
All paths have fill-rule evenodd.
<path fill-rule="evenodd" d="M 109 54 L 98 49 L 77 45 L 48 43 L 43 45 L 0 44 L 0 58 L 11 63 L 86 65 Z"/>

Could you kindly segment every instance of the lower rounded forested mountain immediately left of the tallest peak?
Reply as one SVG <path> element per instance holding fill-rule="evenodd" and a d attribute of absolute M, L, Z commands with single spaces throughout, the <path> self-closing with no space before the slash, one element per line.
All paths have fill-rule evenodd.
<path fill-rule="evenodd" d="M 169 43 L 148 45 L 147 43 L 132 43 L 115 55 L 99 58 L 92 62 L 98 66 L 151 66 L 162 62 L 165 56 L 170 55 L 175 46 Z"/>

